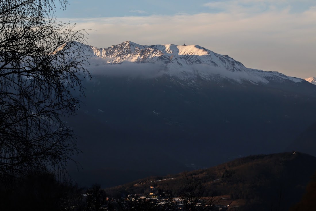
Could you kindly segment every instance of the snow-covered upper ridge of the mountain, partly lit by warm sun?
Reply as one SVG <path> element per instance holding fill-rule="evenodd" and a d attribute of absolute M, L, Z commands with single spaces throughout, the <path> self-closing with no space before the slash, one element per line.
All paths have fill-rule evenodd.
<path fill-rule="evenodd" d="M 228 78 L 238 82 L 250 81 L 267 84 L 270 81 L 302 82 L 301 78 L 288 77 L 276 71 L 262 71 L 246 68 L 242 63 L 214 53 L 198 45 L 151 45 L 143 46 L 126 41 L 108 48 L 82 45 L 91 66 L 126 63 L 155 64 L 161 75 L 180 78 L 202 77 L 204 79 Z M 106 73 L 106 69 L 104 69 Z M 150 71 L 150 70 L 149 70 Z"/>

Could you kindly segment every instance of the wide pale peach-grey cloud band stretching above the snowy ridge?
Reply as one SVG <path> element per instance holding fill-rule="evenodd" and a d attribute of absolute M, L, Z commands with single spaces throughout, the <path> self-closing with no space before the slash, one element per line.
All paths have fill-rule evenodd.
<path fill-rule="evenodd" d="M 314 20 L 316 7 L 310 6 L 296 13 L 284 7 L 260 13 L 220 11 L 194 15 L 73 19 L 72 22 L 77 23 L 77 29 L 96 30 L 88 31 L 88 43 L 95 47 L 109 47 L 126 40 L 141 45 L 181 45 L 185 40 L 186 44 L 197 44 L 216 53 L 228 54 L 249 68 L 307 78 L 315 71 Z"/>

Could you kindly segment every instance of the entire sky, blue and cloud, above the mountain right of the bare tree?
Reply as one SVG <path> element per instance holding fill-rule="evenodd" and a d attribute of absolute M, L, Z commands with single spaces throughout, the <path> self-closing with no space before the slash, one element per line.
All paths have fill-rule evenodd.
<path fill-rule="evenodd" d="M 106 48 L 199 45 L 248 68 L 316 76 L 315 0 L 68 0 L 59 21 L 89 29 L 88 44 Z"/>

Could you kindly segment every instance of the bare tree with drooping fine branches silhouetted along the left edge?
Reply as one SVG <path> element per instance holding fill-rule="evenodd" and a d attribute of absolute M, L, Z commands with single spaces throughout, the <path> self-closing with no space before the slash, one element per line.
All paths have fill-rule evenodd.
<path fill-rule="evenodd" d="M 57 22 L 55 2 L 68 5 L 0 1 L 0 177 L 30 169 L 60 173 L 79 153 L 62 117 L 75 114 L 82 79 L 90 77 L 81 45 L 86 33 Z"/>

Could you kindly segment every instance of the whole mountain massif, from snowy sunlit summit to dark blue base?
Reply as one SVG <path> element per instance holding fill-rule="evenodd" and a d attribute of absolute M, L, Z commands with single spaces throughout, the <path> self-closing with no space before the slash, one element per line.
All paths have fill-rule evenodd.
<path fill-rule="evenodd" d="M 78 115 L 65 121 L 79 136 L 84 170 L 74 178 L 85 185 L 295 150 L 316 119 L 315 85 L 197 45 L 78 45 L 92 81 Z"/>

